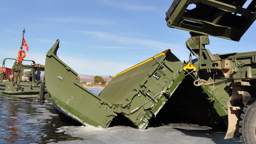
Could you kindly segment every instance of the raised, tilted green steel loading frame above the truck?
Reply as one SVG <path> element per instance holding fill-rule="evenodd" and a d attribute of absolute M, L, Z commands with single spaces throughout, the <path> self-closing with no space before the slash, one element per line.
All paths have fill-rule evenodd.
<path fill-rule="evenodd" d="M 165 20 L 168 27 L 239 41 L 256 18 L 255 2 L 246 1 L 174 0 Z"/>

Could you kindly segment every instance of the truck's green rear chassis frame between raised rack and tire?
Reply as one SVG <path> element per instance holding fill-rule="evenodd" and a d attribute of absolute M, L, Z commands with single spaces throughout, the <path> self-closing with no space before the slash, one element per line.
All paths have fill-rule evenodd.
<path fill-rule="evenodd" d="M 256 63 L 256 51 L 213 55 L 205 49 L 209 43 L 206 35 L 194 36 L 186 41 L 186 47 L 199 60 L 198 76 L 204 85 L 218 85 L 231 80 L 256 79 L 253 66 Z"/>

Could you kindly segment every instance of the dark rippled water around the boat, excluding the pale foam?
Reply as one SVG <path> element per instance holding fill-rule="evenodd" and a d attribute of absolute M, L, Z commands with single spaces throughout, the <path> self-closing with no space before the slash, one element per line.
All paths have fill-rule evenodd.
<path fill-rule="evenodd" d="M 102 89 L 88 88 L 95 94 Z M 81 139 L 63 133 L 55 133 L 63 122 L 51 102 L 0 96 L 0 143 L 47 143 Z"/>

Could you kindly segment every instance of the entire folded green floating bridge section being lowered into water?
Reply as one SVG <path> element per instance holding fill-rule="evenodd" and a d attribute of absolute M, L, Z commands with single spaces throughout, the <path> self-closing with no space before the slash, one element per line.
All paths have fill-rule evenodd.
<path fill-rule="evenodd" d="M 48 94 L 59 112 L 82 125 L 107 128 L 118 116 L 145 129 L 158 113 L 159 117 L 170 120 L 178 110 L 180 113 L 175 115 L 186 120 L 208 125 L 226 122 L 229 98 L 223 89 L 226 84 L 195 88 L 193 81 L 197 76 L 193 70 L 198 64 L 187 71 L 184 68 L 189 63 L 181 62 L 170 50 L 116 74 L 96 95 L 75 82 L 78 74 L 58 58 L 59 42 L 46 55 Z"/>

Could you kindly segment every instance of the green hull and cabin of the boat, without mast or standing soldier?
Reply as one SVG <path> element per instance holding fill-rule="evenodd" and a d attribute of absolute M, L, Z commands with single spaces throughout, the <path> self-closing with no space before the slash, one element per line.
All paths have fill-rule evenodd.
<path fill-rule="evenodd" d="M 13 58 L 3 60 L 3 65 L 0 67 L 0 95 L 39 101 L 50 100 L 44 80 L 44 65 L 36 64 L 33 60 L 23 59 L 25 62 L 31 62 L 31 65 L 21 66 L 19 81 L 14 86 L 12 82 L 6 80 L 11 75 L 11 69 L 5 66 L 6 60 L 15 61 Z M 40 73 L 40 79 L 35 78 L 37 73 Z"/>

